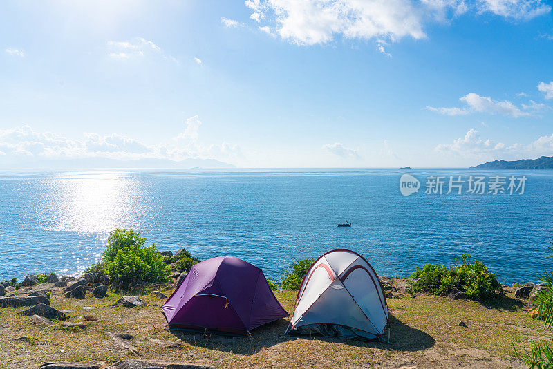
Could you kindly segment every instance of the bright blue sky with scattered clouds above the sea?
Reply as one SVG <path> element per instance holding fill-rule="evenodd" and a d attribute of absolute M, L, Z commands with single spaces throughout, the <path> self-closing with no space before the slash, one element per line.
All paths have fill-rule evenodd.
<path fill-rule="evenodd" d="M 552 3 L 2 1 L 0 167 L 553 155 Z"/>

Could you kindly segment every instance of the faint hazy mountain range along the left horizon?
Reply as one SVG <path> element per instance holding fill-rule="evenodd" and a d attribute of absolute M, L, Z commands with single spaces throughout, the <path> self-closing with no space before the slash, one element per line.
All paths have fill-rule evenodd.
<path fill-rule="evenodd" d="M 1 158 L 1 157 L 0 157 Z M 169 160 L 144 158 L 139 160 L 117 160 L 110 158 L 82 158 L 64 160 L 28 160 L 26 162 L 2 162 L 0 169 L 93 169 L 93 168 L 159 168 L 159 169 L 225 169 L 234 165 L 215 159 Z"/>

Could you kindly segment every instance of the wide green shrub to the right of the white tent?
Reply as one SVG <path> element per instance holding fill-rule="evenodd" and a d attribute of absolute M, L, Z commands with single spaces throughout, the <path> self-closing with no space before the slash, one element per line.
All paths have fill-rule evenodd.
<path fill-rule="evenodd" d="M 486 265 L 480 261 L 471 263 L 471 256 L 462 254 L 461 262 L 456 259 L 455 266 L 424 264 L 417 267 L 411 276 L 411 292 L 429 292 L 432 294 L 447 294 L 453 288 L 465 293 L 469 299 L 488 300 L 501 292 L 494 273 L 489 272 Z"/>

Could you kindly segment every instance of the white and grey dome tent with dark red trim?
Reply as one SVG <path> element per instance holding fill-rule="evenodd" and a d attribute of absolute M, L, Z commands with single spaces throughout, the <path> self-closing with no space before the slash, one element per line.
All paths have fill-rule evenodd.
<path fill-rule="evenodd" d="M 371 264 L 357 252 L 337 249 L 319 257 L 303 277 L 285 334 L 377 341 L 387 323 L 386 296 Z"/>

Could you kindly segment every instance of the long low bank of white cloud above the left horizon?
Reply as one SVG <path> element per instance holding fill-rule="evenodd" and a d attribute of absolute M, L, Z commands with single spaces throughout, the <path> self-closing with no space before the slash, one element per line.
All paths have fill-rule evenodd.
<path fill-rule="evenodd" d="M 30 126 L 0 130 L 0 156 L 30 160 L 56 160 L 80 158 L 112 158 L 139 160 L 158 158 L 184 160 L 212 158 L 236 162 L 243 158 L 240 146 L 223 142 L 205 144 L 200 141 L 198 116 L 187 119 L 185 129 L 169 142 L 144 144 L 123 135 L 84 133 L 83 139 L 70 139 L 51 132 L 34 131 Z"/>

